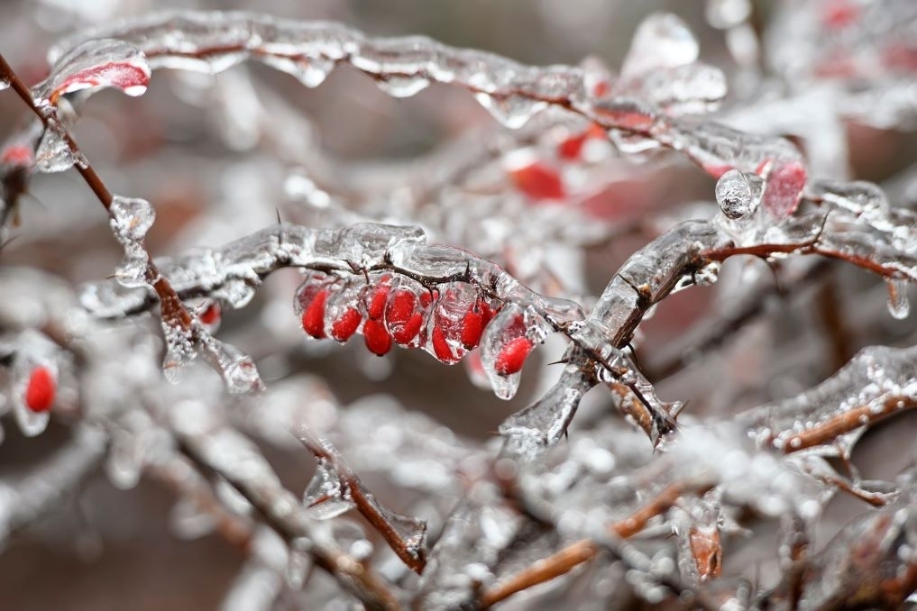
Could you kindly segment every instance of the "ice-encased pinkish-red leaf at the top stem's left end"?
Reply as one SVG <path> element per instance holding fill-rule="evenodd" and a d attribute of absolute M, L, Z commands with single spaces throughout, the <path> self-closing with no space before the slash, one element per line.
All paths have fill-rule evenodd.
<path fill-rule="evenodd" d="M 52 104 L 65 93 L 114 87 L 127 95 L 147 91 L 149 64 L 143 52 L 124 40 L 87 40 L 55 62 L 47 79 L 35 87 Z"/>

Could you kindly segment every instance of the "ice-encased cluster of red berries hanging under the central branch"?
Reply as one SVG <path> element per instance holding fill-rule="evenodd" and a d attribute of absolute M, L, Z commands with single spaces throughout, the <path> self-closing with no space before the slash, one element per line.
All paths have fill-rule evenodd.
<path fill-rule="evenodd" d="M 315 339 L 347 342 L 361 333 L 366 347 L 385 355 L 393 345 L 423 348 L 442 363 L 458 363 L 481 344 L 484 329 L 500 312 L 470 284 L 454 282 L 425 289 L 409 278 L 392 274 L 337 278 L 312 273 L 296 291 L 295 308 L 303 331 Z M 505 318 L 505 317 L 501 317 Z M 534 347 L 526 337 L 522 314 L 499 333 L 494 370 L 501 376 L 518 373 Z"/>

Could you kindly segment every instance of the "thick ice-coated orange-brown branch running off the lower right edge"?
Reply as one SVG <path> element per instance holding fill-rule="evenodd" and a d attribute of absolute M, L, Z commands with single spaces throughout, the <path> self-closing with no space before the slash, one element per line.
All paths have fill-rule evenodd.
<path fill-rule="evenodd" d="M 736 417 L 761 444 L 785 453 L 848 455 L 879 420 L 917 408 L 917 347 L 864 348 L 822 384 Z"/>

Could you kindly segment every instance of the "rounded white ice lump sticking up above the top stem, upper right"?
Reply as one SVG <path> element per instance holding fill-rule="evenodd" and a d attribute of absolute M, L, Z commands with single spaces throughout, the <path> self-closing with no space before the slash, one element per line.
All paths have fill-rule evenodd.
<path fill-rule="evenodd" d="M 621 76 L 631 79 L 656 68 L 675 68 L 696 61 L 697 39 L 685 23 L 670 13 L 654 13 L 637 27 Z"/>

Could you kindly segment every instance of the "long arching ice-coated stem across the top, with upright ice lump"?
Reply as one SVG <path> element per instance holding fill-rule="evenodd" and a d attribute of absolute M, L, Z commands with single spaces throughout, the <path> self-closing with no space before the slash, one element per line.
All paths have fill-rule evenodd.
<path fill-rule="evenodd" d="M 768 161 L 801 159 L 781 138 L 750 136 L 724 125 L 668 115 L 667 108 L 697 111 L 714 104 L 725 93 L 724 78 L 696 63 L 697 42 L 677 17 L 657 15 L 647 21 L 650 25 L 641 30 L 642 37 L 638 31 L 634 57 L 625 63 L 611 94 L 596 92 L 590 86 L 591 75 L 580 68 L 525 66 L 429 38 L 370 38 L 336 23 L 246 12 L 178 11 L 125 19 L 62 40 L 51 50 L 50 60 L 56 62 L 87 40 L 116 38 L 142 51 L 151 69 L 217 72 L 243 60 L 258 60 L 309 87 L 346 63 L 395 96 L 413 95 L 431 82 L 456 84 L 514 128 L 547 106 L 563 108 L 614 137 L 638 136 L 653 146 L 678 150 L 714 176 L 731 168 L 756 171 Z M 678 50 L 657 54 L 654 36 L 670 39 Z M 667 87 L 667 82 L 679 86 Z"/>

